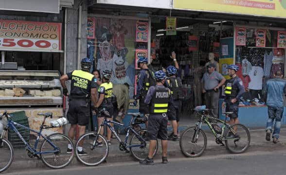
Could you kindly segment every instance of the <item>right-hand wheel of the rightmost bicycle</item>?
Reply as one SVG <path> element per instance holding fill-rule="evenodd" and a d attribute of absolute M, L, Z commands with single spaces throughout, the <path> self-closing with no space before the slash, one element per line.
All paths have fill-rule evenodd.
<path fill-rule="evenodd" d="M 250 133 L 249 130 L 242 124 L 234 124 L 231 126 L 236 133 L 233 133 L 230 129 L 226 136 L 231 134 L 238 134 L 238 139 L 225 140 L 225 145 L 231 153 L 243 153 L 250 145 Z"/>

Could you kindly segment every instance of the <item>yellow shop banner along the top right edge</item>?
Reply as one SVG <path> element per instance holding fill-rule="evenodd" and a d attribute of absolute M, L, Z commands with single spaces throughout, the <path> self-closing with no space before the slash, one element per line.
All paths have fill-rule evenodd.
<path fill-rule="evenodd" d="M 286 18 L 286 0 L 174 0 L 174 8 Z"/>

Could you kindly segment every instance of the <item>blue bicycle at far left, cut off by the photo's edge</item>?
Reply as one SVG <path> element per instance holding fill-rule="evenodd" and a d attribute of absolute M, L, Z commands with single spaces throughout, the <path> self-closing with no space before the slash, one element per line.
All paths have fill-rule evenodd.
<path fill-rule="evenodd" d="M 6 134 L 6 131 L 10 128 L 13 129 L 13 131 L 18 135 L 20 140 L 25 144 L 26 150 L 28 152 L 28 156 L 30 158 L 37 157 L 42 160 L 42 162 L 47 165 L 50 168 L 53 169 L 60 169 L 64 168 L 65 166 L 69 165 L 73 158 L 73 146 L 72 146 L 72 153 L 68 154 L 65 151 L 67 151 L 68 144 L 72 145 L 72 140 L 61 134 L 61 133 L 54 133 L 47 137 L 42 135 L 43 129 L 49 129 L 54 128 L 54 126 L 47 126 L 44 125 L 46 118 L 53 117 L 53 113 L 38 113 L 38 115 L 44 116 L 43 123 L 40 125 L 39 131 L 36 131 L 34 129 L 30 129 L 29 127 L 23 126 L 19 123 L 13 122 L 11 120 L 11 117 L 5 111 L 2 115 L 0 115 L 0 122 L 4 126 L 4 130 L 0 137 L 0 155 L 1 159 L 7 160 L 5 162 L 0 163 L 0 172 L 5 171 L 8 169 L 13 162 L 14 159 L 14 149 L 10 141 L 4 139 L 4 136 Z M 23 132 L 19 132 L 16 128 L 18 126 L 19 128 L 23 129 Z M 22 130 L 21 130 L 22 131 Z M 32 147 L 26 140 L 24 140 L 22 134 L 25 132 L 34 132 L 37 134 L 36 142 L 34 147 Z M 22 134 L 21 134 L 22 133 Z M 38 149 L 38 143 L 40 138 L 43 138 L 43 142 L 40 145 L 40 148 Z M 65 154 L 66 153 L 66 154 Z M 5 158 L 6 157 L 6 158 Z M 50 162 L 51 161 L 51 162 Z"/>

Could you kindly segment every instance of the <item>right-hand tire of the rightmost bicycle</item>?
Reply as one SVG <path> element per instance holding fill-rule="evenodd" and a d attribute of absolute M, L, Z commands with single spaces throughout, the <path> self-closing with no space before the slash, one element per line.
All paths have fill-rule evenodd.
<path fill-rule="evenodd" d="M 249 132 L 249 130 L 248 130 L 243 124 L 234 124 L 234 125 L 231 126 L 231 128 L 233 128 L 233 127 L 237 127 L 237 128 L 238 128 L 238 127 L 241 127 L 240 130 L 237 129 L 237 131 L 236 131 L 237 134 L 239 135 L 239 140 L 238 140 L 238 141 L 236 141 L 236 140 L 225 140 L 225 145 L 226 145 L 227 150 L 229 150 L 231 153 L 240 154 L 240 153 L 245 152 L 245 151 L 248 149 L 249 145 L 250 145 L 250 132 Z M 239 130 L 239 131 L 238 131 L 238 130 Z M 246 135 L 242 135 L 243 132 L 241 132 L 241 131 L 246 131 Z M 232 131 L 229 130 L 228 133 L 227 133 L 227 136 L 228 136 L 229 133 L 231 133 L 231 132 L 232 132 Z M 247 141 L 246 141 L 246 143 L 244 144 L 244 146 L 242 146 L 242 149 L 235 150 L 233 147 L 237 147 L 236 142 L 242 142 L 243 136 L 247 136 Z M 236 142 L 235 142 L 235 141 L 236 141 Z M 232 143 L 234 144 L 234 146 L 231 145 Z"/>

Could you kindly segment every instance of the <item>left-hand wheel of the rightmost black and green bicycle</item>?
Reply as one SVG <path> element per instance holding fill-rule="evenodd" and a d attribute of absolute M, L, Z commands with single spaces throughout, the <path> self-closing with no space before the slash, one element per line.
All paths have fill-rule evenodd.
<path fill-rule="evenodd" d="M 203 130 L 199 130 L 197 141 L 192 142 L 196 133 L 195 126 L 193 126 L 187 128 L 180 136 L 181 152 L 186 157 L 199 157 L 207 147 L 207 136 Z"/>

